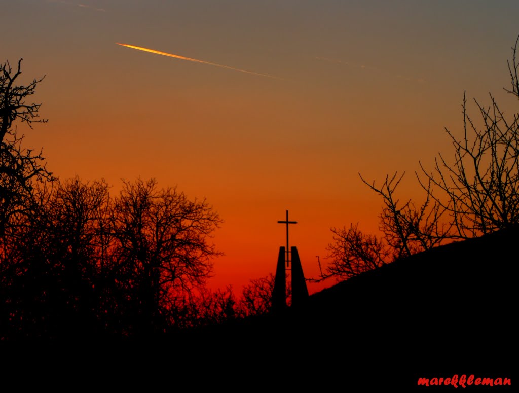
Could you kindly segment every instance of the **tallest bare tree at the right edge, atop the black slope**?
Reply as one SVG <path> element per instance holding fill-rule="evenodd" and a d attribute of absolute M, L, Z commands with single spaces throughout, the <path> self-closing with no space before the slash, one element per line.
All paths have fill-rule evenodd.
<path fill-rule="evenodd" d="M 508 62 L 512 89 L 504 89 L 519 99 L 517 45 Z M 507 118 L 496 100 L 482 106 L 474 99 L 481 126 L 467 113 L 463 94 L 463 135 L 445 129 L 454 147 L 454 162 L 441 153 L 432 171 L 421 165 L 422 174 L 433 188 L 428 197 L 444 209 L 453 222 L 454 237 L 480 236 L 519 223 L 519 113 Z"/>

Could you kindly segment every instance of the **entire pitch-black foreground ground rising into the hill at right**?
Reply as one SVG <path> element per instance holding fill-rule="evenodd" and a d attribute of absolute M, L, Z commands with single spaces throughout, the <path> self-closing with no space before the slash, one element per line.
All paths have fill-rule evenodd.
<path fill-rule="evenodd" d="M 166 340 L 24 344 L 3 361 L 67 390 L 104 378 L 117 390 L 159 382 L 178 390 L 184 381 L 231 390 L 444 391 L 455 388 L 418 387 L 418 378 L 474 374 L 511 378 L 511 387 L 486 390 L 512 391 L 518 240 L 518 230 L 502 231 L 416 254 L 316 293 L 297 313 Z"/>

